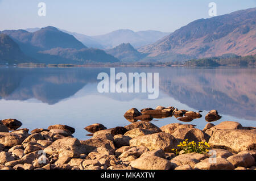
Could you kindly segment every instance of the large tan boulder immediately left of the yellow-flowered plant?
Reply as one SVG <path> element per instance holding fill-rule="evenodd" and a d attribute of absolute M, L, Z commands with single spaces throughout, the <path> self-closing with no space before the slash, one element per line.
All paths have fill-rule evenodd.
<path fill-rule="evenodd" d="M 176 145 L 176 139 L 171 134 L 163 132 L 138 136 L 130 140 L 130 146 L 146 146 L 150 150 L 163 149 L 165 152 L 171 152 Z"/>

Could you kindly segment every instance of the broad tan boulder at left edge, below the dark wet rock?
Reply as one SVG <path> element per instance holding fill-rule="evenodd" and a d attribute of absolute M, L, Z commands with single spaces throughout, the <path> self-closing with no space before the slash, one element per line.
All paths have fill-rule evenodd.
<path fill-rule="evenodd" d="M 25 131 L 17 131 L 13 133 L 0 133 L 0 144 L 5 145 L 6 147 L 13 147 L 16 145 L 21 145 L 22 142 L 28 137 L 28 134 Z"/>

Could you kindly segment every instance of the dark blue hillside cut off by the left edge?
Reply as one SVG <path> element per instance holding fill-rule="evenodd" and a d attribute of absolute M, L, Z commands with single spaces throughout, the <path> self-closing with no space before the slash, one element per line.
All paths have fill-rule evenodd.
<path fill-rule="evenodd" d="M 0 34 L 0 64 L 17 64 L 26 60 L 19 45 L 16 44 L 8 35 Z"/>

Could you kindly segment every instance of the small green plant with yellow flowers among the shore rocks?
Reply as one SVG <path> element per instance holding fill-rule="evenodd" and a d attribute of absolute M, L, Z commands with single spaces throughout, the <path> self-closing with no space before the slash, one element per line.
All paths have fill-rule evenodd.
<path fill-rule="evenodd" d="M 184 151 L 185 153 L 201 153 L 201 154 L 205 154 L 207 153 L 210 148 L 209 144 L 207 142 L 199 142 L 198 144 L 196 144 L 195 141 L 192 142 L 188 142 L 187 140 L 184 140 L 183 142 L 180 142 L 179 145 L 177 145 L 177 147 L 179 147 L 181 150 Z M 172 149 L 172 151 L 175 152 L 176 155 L 179 154 L 179 151 L 177 149 Z"/>

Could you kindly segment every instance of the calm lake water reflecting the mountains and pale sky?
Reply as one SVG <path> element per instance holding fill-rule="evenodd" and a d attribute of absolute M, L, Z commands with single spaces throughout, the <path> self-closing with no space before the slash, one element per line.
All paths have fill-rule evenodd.
<path fill-rule="evenodd" d="M 242 68 L 116 68 L 115 72 L 159 73 L 159 98 L 148 93 L 99 93 L 98 73 L 110 68 L 0 68 L 0 120 L 18 119 L 30 131 L 53 124 L 74 127 L 73 136 L 85 140 L 83 128 L 93 123 L 112 128 L 130 124 L 123 114 L 130 108 L 174 106 L 199 111 L 190 123 L 203 129 L 204 116 L 216 109 L 221 121 L 256 127 L 256 69 Z M 174 116 L 154 119 L 161 127 L 183 123 Z"/>

